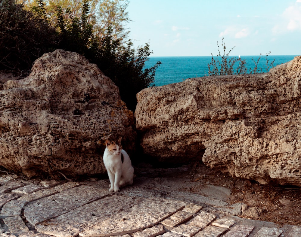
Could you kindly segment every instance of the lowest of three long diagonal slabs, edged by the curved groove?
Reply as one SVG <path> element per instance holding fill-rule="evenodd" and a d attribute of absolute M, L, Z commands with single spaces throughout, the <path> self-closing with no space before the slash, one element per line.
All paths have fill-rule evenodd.
<path fill-rule="evenodd" d="M 144 199 L 137 205 L 120 212 L 90 229 L 80 236 L 112 236 L 134 233 L 157 225 L 162 220 L 184 208 L 185 202 L 170 199 Z"/>

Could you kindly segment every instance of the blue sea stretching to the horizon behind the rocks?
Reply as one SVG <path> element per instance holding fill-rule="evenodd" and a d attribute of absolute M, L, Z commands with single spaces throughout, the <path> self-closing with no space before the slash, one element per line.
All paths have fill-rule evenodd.
<path fill-rule="evenodd" d="M 279 55 L 267 57 L 261 56 L 257 67 L 262 68 L 262 72 L 265 70 L 266 62 L 272 62 L 274 59 L 274 66 L 281 63 L 288 62 L 292 60 L 296 55 Z M 238 56 L 233 56 L 234 58 Z M 214 57 L 216 58 L 216 57 Z M 230 56 L 232 58 L 232 56 Z M 254 68 L 255 62 L 259 56 L 240 56 L 240 59 L 245 59 L 247 68 Z M 156 86 L 162 86 L 166 84 L 171 84 L 175 82 L 184 81 L 187 78 L 193 77 L 203 77 L 208 75 L 208 64 L 211 62 L 212 56 L 195 56 L 195 57 L 149 57 L 145 63 L 145 67 L 149 68 L 160 61 L 162 64 L 156 70 L 156 76 L 154 84 Z M 253 60 L 252 60 L 253 59 Z"/>

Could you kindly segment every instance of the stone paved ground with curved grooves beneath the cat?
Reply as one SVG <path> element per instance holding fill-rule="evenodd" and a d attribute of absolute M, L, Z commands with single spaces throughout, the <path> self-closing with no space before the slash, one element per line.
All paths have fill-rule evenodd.
<path fill-rule="evenodd" d="M 240 203 L 163 190 L 147 178 L 120 193 L 108 184 L 1 175 L 0 237 L 301 236 L 301 226 L 238 217 Z"/>

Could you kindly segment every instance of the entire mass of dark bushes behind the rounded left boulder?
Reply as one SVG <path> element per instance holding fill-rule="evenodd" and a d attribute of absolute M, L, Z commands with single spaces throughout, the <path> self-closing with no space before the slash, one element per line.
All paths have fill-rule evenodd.
<path fill-rule="evenodd" d="M 136 93 L 151 85 L 160 62 L 145 69 L 145 62 L 152 53 L 149 45 L 135 50 L 130 40 L 124 44 L 123 37 L 117 37 L 123 29 L 122 21 L 128 21 L 126 13 L 117 16 L 119 22 L 109 26 L 107 34 L 99 34 L 98 26 L 89 21 L 88 0 L 83 1 L 79 17 L 70 9 L 57 6 L 55 20 L 48 20 L 53 14 L 47 13 L 43 0 L 37 0 L 38 5 L 31 11 L 15 1 L 0 0 L 0 70 L 30 70 L 43 53 L 57 48 L 77 52 L 96 63 L 119 87 L 127 107 L 135 110 Z M 126 5 L 121 6 L 119 2 L 110 2 L 109 9 L 115 4 L 123 10 Z M 51 26 L 53 22 L 55 26 Z M 117 26 L 121 28 L 117 30 Z"/>

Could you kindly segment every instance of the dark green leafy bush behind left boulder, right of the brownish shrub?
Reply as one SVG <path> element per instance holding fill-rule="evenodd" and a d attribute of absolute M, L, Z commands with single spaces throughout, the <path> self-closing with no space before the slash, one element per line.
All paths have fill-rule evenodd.
<path fill-rule="evenodd" d="M 88 22 L 88 2 L 84 1 L 80 19 L 64 18 L 63 9 L 57 8 L 59 33 L 58 47 L 84 55 L 98 65 L 100 70 L 119 87 L 121 99 L 127 107 L 135 111 L 136 94 L 154 81 L 157 62 L 144 69 L 145 62 L 152 53 L 148 44 L 137 50 L 131 40 L 126 45 L 122 38 L 116 38 L 112 28 L 108 28 L 103 38 L 93 34 L 93 26 Z"/>

